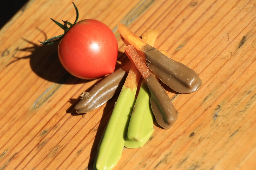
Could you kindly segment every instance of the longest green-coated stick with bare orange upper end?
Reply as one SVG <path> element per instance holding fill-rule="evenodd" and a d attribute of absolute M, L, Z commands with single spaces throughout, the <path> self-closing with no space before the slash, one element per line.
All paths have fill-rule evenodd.
<path fill-rule="evenodd" d="M 132 65 L 98 146 L 94 163 L 98 170 L 113 169 L 121 158 L 140 78 Z"/>

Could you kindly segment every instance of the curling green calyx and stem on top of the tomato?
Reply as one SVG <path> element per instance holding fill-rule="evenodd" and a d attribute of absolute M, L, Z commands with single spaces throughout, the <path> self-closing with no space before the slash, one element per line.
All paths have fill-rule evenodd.
<path fill-rule="evenodd" d="M 72 24 L 72 23 L 70 23 L 70 22 L 68 22 L 68 21 L 63 21 L 63 20 L 62 20 L 62 22 L 64 22 L 64 24 L 61 24 L 60 22 L 55 21 L 54 19 L 51 18 L 51 20 L 52 20 L 53 22 L 55 22 L 60 28 L 62 28 L 62 29 L 64 30 L 64 34 L 61 34 L 61 35 L 58 35 L 58 36 L 49 38 L 49 39 L 46 40 L 46 41 L 39 41 L 39 40 L 38 40 L 38 41 L 41 43 L 39 46 L 41 46 L 42 44 L 50 45 L 50 44 L 53 44 L 53 43 L 55 43 L 55 42 L 58 42 L 58 41 L 61 40 L 61 38 L 68 32 L 68 30 L 69 30 L 70 28 L 72 28 L 72 27 L 76 24 L 76 22 L 78 22 L 78 16 L 79 16 L 78 8 L 76 7 L 76 5 L 75 5 L 74 2 L 72 2 L 72 3 L 73 3 L 73 5 L 74 5 L 75 11 L 76 11 L 76 19 L 75 19 L 75 22 Z M 69 25 L 69 27 L 68 27 L 68 25 Z"/>

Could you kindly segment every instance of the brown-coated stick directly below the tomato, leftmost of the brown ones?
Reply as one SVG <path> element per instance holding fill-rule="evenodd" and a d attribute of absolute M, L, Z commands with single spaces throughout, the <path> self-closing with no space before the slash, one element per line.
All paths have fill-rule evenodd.
<path fill-rule="evenodd" d="M 88 113 L 119 93 L 129 72 L 131 63 L 109 74 L 92 87 L 89 92 L 83 92 L 82 99 L 75 105 L 77 113 Z"/>

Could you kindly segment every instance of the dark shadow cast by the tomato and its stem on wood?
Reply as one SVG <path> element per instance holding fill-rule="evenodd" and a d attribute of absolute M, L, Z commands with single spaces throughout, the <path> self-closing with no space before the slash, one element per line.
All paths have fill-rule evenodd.
<path fill-rule="evenodd" d="M 22 55 L 22 51 L 25 54 L 30 53 L 27 56 L 16 57 L 14 61 L 9 63 L 7 66 L 15 64 L 15 62 L 22 59 L 29 59 L 29 64 L 32 71 L 39 77 L 54 83 L 59 84 L 80 84 L 88 82 L 89 80 L 79 79 L 68 73 L 61 65 L 58 57 L 58 43 L 52 45 L 35 44 L 31 41 L 22 38 L 26 41 L 30 47 L 17 48 L 16 53 L 19 52 Z"/>

